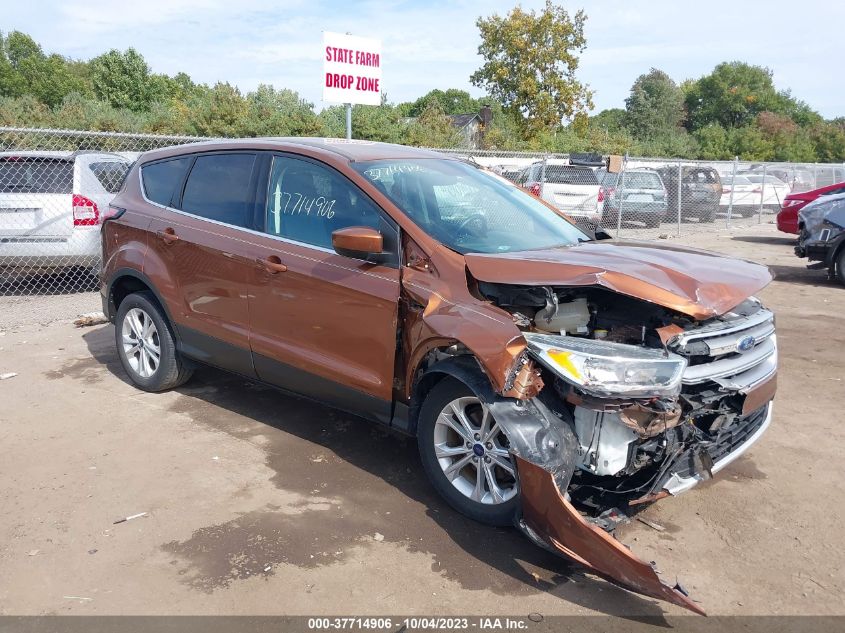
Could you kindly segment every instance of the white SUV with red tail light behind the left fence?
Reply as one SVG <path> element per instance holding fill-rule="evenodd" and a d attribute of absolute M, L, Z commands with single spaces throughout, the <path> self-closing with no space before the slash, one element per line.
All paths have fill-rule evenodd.
<path fill-rule="evenodd" d="M 132 161 L 101 152 L 0 152 L 0 269 L 100 261 L 100 225 Z"/>

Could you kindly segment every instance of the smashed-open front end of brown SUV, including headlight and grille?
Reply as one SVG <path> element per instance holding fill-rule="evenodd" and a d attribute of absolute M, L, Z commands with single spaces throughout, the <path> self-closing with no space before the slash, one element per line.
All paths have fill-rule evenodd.
<path fill-rule="evenodd" d="M 603 527 L 709 478 L 767 424 L 774 324 L 754 298 L 695 321 L 601 288 L 478 291 L 523 331 L 544 402 L 574 430 L 566 490 Z"/>

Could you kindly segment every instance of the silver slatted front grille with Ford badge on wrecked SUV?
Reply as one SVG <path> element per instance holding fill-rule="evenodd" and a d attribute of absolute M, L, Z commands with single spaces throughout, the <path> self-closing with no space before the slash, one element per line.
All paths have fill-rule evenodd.
<path fill-rule="evenodd" d="M 689 361 L 685 386 L 715 382 L 723 391 L 746 391 L 777 369 L 774 315 L 749 300 L 731 313 L 679 334 L 670 348 Z"/>

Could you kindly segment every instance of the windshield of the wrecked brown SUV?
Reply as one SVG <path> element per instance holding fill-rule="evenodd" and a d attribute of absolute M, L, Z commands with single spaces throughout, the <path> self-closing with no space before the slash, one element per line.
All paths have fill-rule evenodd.
<path fill-rule="evenodd" d="M 455 160 L 353 163 L 426 233 L 459 253 L 507 253 L 587 241 L 585 233 L 502 178 Z"/>

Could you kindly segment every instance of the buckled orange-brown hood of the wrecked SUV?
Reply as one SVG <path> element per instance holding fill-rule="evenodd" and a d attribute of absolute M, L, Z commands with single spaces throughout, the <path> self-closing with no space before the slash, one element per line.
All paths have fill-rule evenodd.
<path fill-rule="evenodd" d="M 583 242 L 464 256 L 479 281 L 525 286 L 603 286 L 695 319 L 724 314 L 771 280 L 760 264 L 650 242 Z"/>

